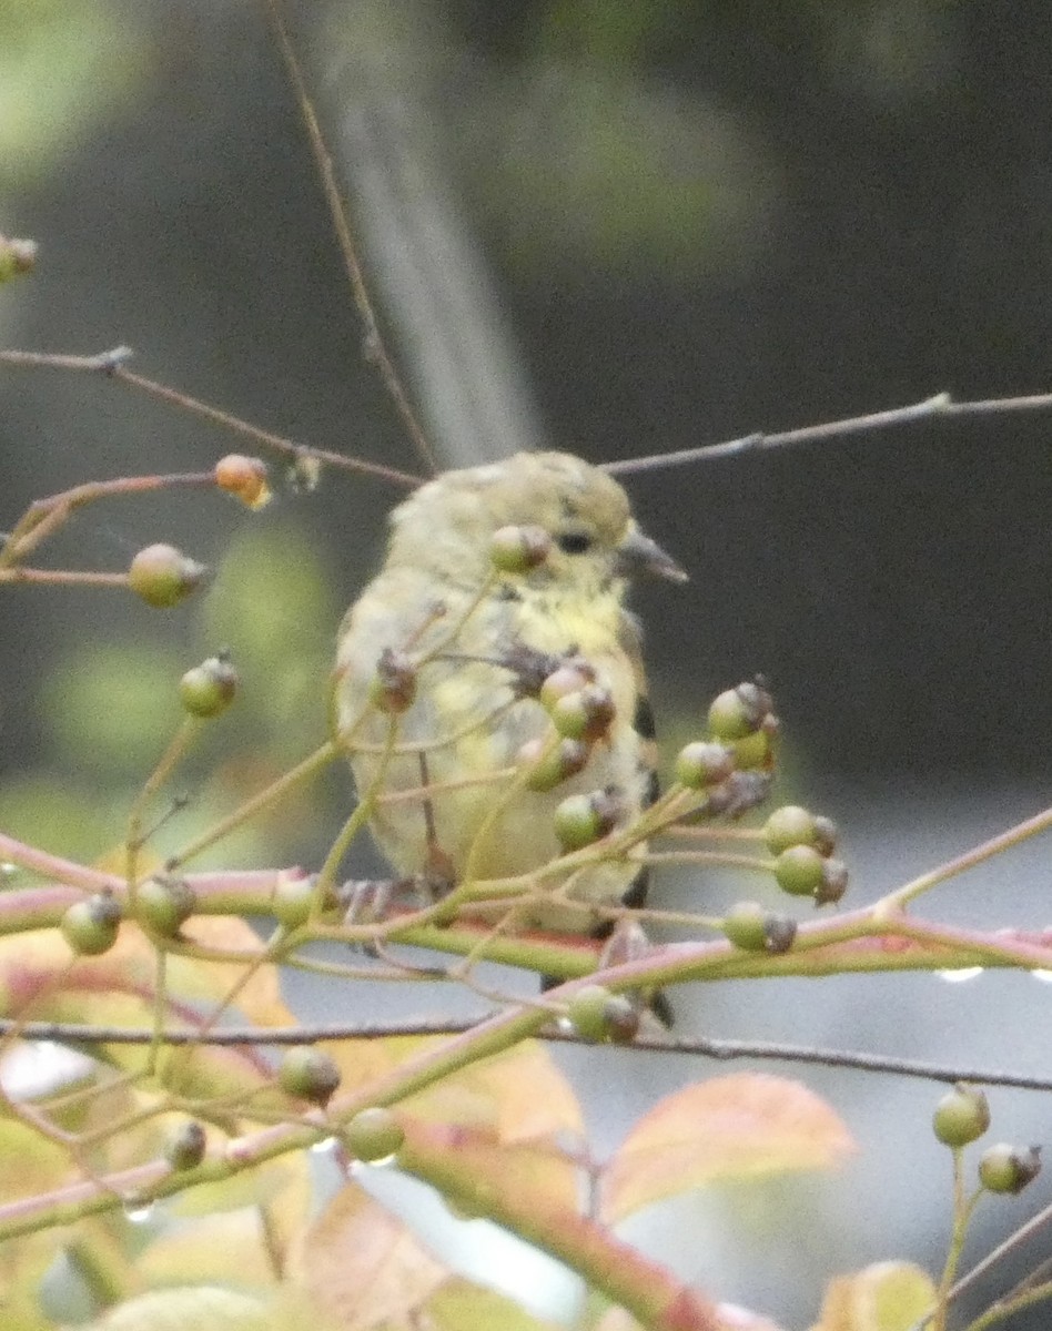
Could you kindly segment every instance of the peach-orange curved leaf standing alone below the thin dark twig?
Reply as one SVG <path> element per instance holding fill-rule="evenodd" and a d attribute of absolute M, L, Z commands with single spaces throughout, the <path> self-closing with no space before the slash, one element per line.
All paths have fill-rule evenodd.
<path fill-rule="evenodd" d="M 842 1119 L 799 1082 L 739 1073 L 667 1095 L 603 1170 L 602 1218 L 714 1182 L 830 1169 L 855 1149 Z"/>

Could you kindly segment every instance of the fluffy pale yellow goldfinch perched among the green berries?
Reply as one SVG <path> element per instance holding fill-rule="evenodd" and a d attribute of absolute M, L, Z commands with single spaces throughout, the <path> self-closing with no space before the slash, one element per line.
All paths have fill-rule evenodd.
<path fill-rule="evenodd" d="M 517 928 L 583 933 L 595 914 L 573 902 L 641 904 L 630 857 L 538 873 L 563 851 L 555 809 L 569 795 L 599 792 L 611 825 L 654 799 L 639 627 L 625 606 L 637 572 L 686 579 L 622 487 L 569 454 L 447 471 L 394 510 L 384 568 L 340 630 L 334 724 L 398 874 L 522 878 Z M 589 733 L 586 707 L 569 749 L 542 689 L 559 667 L 597 713 Z M 538 751 L 571 775 L 530 776 Z"/>

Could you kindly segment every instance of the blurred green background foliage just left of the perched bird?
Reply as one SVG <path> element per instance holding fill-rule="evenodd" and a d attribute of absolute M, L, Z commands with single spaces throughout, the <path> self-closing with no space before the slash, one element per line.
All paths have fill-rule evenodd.
<path fill-rule="evenodd" d="M 146 827 L 174 796 L 189 797 L 150 843 L 158 855 L 177 851 L 324 741 L 338 615 L 330 574 L 294 523 L 264 523 L 233 538 L 214 584 L 192 611 L 193 648 L 156 640 L 152 612 L 142 611 L 141 636 L 84 638 L 41 673 L 40 767 L 0 787 L 0 828 L 88 861 L 111 852 L 141 783 L 182 724 L 182 672 L 220 647 L 230 648 L 238 669 L 237 699 L 221 719 L 202 723 L 148 811 Z M 337 817 L 324 793 L 293 792 L 194 866 L 265 866 L 324 841 Z"/>

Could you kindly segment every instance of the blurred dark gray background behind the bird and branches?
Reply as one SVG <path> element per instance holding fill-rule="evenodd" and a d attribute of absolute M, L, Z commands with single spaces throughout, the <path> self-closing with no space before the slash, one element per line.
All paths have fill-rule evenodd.
<path fill-rule="evenodd" d="M 1052 390 L 1037 0 L 370 0 L 301 5 L 294 29 L 385 327 L 446 463 L 535 442 L 607 461 L 944 389 Z M 0 290 L 4 345 L 125 342 L 140 373 L 268 429 L 418 467 L 364 365 L 254 5 L 0 11 L 0 230 L 41 246 L 39 273 Z M 840 821 L 848 905 L 1048 801 L 1049 429 L 1052 415 L 929 422 L 629 482 L 692 574 L 638 598 L 668 752 L 714 692 L 763 671 L 786 729 L 782 796 Z M 233 446 L 117 385 L 4 369 L 0 522 L 68 484 L 204 469 Z M 216 586 L 169 615 L 107 591 L 4 596 L 0 825 L 104 853 L 170 732 L 172 681 L 222 644 L 245 677 L 241 715 L 190 767 L 173 843 L 305 753 L 338 616 L 395 498 L 326 473 L 317 494 L 261 515 L 177 494 L 79 518 L 56 563 L 124 568 L 173 540 L 218 567 Z M 334 773 L 213 862 L 317 862 L 348 800 Z M 925 910 L 1045 925 L 1047 858 L 1043 844 L 1017 852 Z M 740 896 L 774 901 L 762 881 L 658 885 L 670 905 Z M 445 1010 L 443 993 L 433 1001 Z M 1021 976 L 678 997 L 684 1033 L 1035 1073 L 1051 1066 L 1048 1002 Z M 607 1149 L 658 1093 L 711 1073 L 558 1057 Z M 856 1163 L 691 1199 L 633 1231 L 787 1324 L 816 1315 L 838 1270 L 892 1255 L 937 1270 L 948 1226 L 937 1089 L 803 1075 L 858 1134 Z M 1040 1097 L 995 1093 L 993 1109 L 996 1137 L 1048 1138 Z M 1044 1182 L 1033 1193 L 985 1207 L 976 1256 L 1048 1197 Z M 1017 1271 L 1051 1247 L 1036 1240 Z"/>

